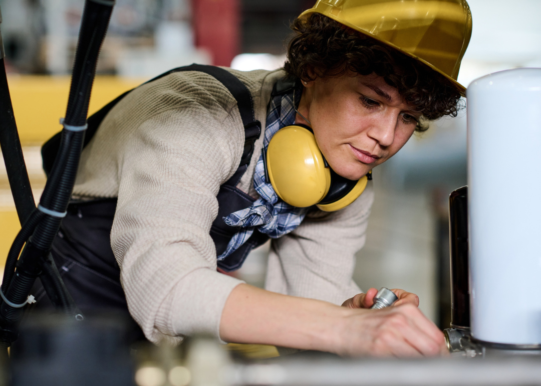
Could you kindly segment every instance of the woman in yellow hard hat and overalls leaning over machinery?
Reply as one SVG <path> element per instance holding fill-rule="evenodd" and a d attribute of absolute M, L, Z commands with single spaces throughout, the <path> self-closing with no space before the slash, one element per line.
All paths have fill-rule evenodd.
<path fill-rule="evenodd" d="M 203 332 L 341 355 L 443 353 L 443 334 L 417 309 L 417 296 L 395 290 L 395 306 L 367 310 L 376 291 L 361 293 L 352 280 L 371 182 L 338 211 L 294 207 L 269 182 L 265 156 L 280 129 L 306 125 L 337 178 L 356 181 L 424 130 L 425 120 L 456 115 L 469 8 L 462 0 L 320 0 L 292 28 L 283 70 L 229 70 L 249 90 L 255 120 L 265 122 L 253 147 L 245 147 L 241 103 L 199 71 L 162 76 L 110 110 L 83 151 L 79 201 L 55 241 L 68 289 L 83 311 L 127 302 L 153 342 Z M 223 212 L 217 197 L 225 186 L 248 205 Z M 96 226 L 103 202 L 116 207 L 114 256 L 93 239 L 109 234 L 107 221 Z M 235 229 L 222 246 L 209 234 L 216 221 Z M 239 266 L 243 245 L 267 237 L 266 290 L 216 272 L 222 263 Z"/>

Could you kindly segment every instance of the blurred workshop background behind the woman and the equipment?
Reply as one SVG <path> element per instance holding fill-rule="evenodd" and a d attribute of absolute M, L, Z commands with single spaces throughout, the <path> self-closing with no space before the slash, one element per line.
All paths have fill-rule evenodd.
<path fill-rule="evenodd" d="M 0 0 L 9 87 L 32 189 L 45 183 L 39 147 L 60 130 L 83 0 Z M 459 82 L 494 71 L 541 66 L 541 2 L 469 0 L 473 34 Z M 312 0 L 117 0 L 98 63 L 90 112 L 170 68 L 191 63 L 275 69 L 289 23 Z M 519 113 L 519 112 L 518 112 Z M 354 278 L 419 295 L 443 328 L 450 320 L 447 199 L 466 185 L 466 110 L 431 123 L 374 170 L 375 203 Z M 512 130 L 512 128 L 510 128 Z M 19 225 L 0 167 L 0 261 Z M 238 272 L 264 281 L 268 245 Z M 332 257 L 329 257 L 332 258 Z M 3 263 L 0 264 L 3 266 Z"/>

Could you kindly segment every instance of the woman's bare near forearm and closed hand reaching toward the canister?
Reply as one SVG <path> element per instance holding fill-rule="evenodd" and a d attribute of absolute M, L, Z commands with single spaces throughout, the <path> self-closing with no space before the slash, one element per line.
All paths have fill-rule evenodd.
<path fill-rule="evenodd" d="M 359 356 L 433 356 L 446 351 L 443 333 L 417 307 L 349 309 L 240 284 L 220 320 L 226 342 L 273 344 Z"/>

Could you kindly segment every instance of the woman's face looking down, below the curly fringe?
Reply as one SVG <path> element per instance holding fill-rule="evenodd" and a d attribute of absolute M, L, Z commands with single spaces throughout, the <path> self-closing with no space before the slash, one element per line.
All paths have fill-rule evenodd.
<path fill-rule="evenodd" d="M 329 165 L 358 180 L 410 139 L 420 114 L 378 75 L 342 75 L 305 84 L 299 112 Z M 308 124 L 297 114 L 296 123 Z"/>

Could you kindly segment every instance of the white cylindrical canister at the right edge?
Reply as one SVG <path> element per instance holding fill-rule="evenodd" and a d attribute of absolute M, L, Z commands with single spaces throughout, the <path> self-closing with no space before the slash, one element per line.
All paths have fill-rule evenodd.
<path fill-rule="evenodd" d="M 541 69 L 481 77 L 466 97 L 472 335 L 541 344 Z"/>

